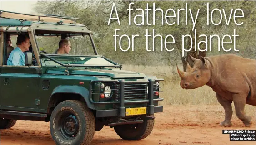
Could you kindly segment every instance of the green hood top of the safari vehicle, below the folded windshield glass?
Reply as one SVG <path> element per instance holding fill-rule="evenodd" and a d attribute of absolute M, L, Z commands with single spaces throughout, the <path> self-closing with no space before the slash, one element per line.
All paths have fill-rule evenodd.
<path fill-rule="evenodd" d="M 63 74 L 65 68 L 49 68 L 47 74 Z M 136 73 L 120 69 L 69 69 L 69 75 L 85 75 L 85 76 L 108 76 L 112 78 L 143 78 L 146 77 L 143 73 Z"/>

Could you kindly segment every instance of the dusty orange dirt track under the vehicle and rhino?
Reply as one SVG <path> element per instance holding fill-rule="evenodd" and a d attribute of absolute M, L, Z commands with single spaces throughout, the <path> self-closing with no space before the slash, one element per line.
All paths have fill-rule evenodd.
<path fill-rule="evenodd" d="M 255 117 L 250 128 L 233 115 L 230 128 L 219 126 L 224 118 L 221 106 L 164 106 L 156 114 L 154 129 L 146 139 L 125 141 L 110 127 L 95 132 L 91 145 L 255 145 L 255 141 L 229 141 L 222 129 L 255 130 Z M 9 130 L 1 130 L 1 145 L 55 145 L 49 122 L 17 121 Z"/>

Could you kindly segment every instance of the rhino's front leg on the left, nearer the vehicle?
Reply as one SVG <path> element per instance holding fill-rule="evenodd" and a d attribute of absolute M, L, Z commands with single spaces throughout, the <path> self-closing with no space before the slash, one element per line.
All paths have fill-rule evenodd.
<path fill-rule="evenodd" d="M 225 110 L 225 120 L 220 123 L 221 126 L 230 127 L 232 126 L 231 118 L 233 115 L 232 110 L 232 101 L 226 100 L 225 98 L 221 97 L 219 94 L 216 93 L 217 100 L 220 102 L 221 106 Z"/>

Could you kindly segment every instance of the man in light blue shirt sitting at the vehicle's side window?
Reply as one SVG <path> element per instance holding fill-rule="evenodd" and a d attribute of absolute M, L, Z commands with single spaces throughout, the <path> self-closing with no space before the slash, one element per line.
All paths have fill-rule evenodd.
<path fill-rule="evenodd" d="M 20 34 L 17 38 L 17 47 L 10 53 L 7 65 L 25 66 L 25 51 L 29 50 L 30 39 L 28 35 Z"/>

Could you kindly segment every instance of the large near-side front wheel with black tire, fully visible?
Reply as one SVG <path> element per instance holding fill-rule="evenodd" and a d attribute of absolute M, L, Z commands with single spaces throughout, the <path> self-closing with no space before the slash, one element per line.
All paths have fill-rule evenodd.
<path fill-rule="evenodd" d="M 75 133 L 68 134 L 69 122 L 76 122 Z M 72 119 L 73 118 L 73 119 Z M 65 120 L 63 120 L 65 119 Z M 69 122 L 67 122 L 69 121 Z M 65 126 L 68 124 L 68 127 Z M 73 125 L 73 124 L 72 124 Z M 60 102 L 50 117 L 50 133 L 57 145 L 89 145 L 95 134 L 95 118 L 85 103 L 78 100 Z"/>

